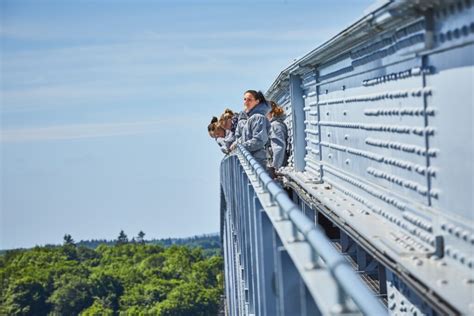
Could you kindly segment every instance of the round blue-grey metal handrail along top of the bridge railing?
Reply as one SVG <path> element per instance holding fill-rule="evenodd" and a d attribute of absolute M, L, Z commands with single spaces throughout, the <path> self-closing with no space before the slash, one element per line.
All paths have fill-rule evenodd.
<path fill-rule="evenodd" d="M 280 214 L 286 216 L 296 229 L 303 234 L 329 269 L 340 286 L 340 297 L 349 296 L 364 315 L 386 315 L 387 310 L 354 272 L 349 262 L 333 247 L 323 230 L 318 228 L 288 197 L 287 193 L 267 174 L 263 166 L 241 145 L 237 154 L 245 159 L 248 167 L 257 176 L 263 188 L 270 194 L 271 200 L 280 208 Z"/>

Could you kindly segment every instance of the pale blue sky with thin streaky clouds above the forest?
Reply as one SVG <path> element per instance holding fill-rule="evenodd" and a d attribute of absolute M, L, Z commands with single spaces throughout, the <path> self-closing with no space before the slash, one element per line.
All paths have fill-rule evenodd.
<path fill-rule="evenodd" d="M 372 3 L 0 0 L 0 249 L 218 232 L 210 117 Z"/>

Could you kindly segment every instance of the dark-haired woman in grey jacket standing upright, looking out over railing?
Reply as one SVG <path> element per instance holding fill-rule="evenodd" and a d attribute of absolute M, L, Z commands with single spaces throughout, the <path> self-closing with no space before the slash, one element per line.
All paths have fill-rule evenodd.
<path fill-rule="evenodd" d="M 270 121 L 268 121 L 266 114 L 270 108 L 263 93 L 255 90 L 247 90 L 244 93 L 244 107 L 248 119 L 243 126 L 238 143 L 242 144 L 255 160 L 265 168 L 267 165 L 266 144 L 270 131 Z M 234 143 L 231 150 L 235 147 L 236 144 Z"/>

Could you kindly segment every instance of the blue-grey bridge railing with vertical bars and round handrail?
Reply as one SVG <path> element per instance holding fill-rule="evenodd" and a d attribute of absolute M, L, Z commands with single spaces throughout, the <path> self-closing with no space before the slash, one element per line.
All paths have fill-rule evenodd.
<path fill-rule="evenodd" d="M 266 170 L 239 146 L 221 163 L 230 315 L 385 315 L 386 309 Z"/>

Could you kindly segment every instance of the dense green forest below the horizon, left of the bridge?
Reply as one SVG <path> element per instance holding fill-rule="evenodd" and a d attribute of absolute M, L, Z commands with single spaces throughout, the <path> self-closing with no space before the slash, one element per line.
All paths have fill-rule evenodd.
<path fill-rule="evenodd" d="M 3 251 L 0 315 L 217 315 L 218 236 L 149 242 L 140 233 Z"/>

